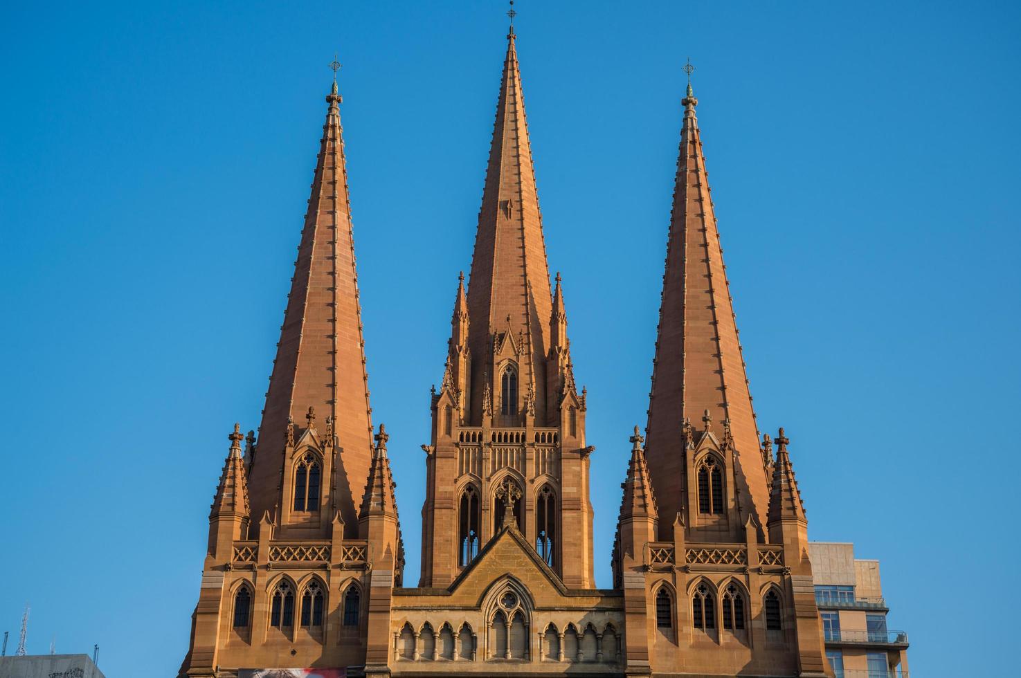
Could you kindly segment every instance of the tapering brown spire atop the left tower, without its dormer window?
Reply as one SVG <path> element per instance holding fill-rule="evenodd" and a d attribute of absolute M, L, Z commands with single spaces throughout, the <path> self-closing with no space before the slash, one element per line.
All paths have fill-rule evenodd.
<path fill-rule="evenodd" d="M 314 407 L 318 421 L 332 426 L 334 447 L 340 450 L 332 469 L 336 487 L 331 505 L 346 525 L 354 526 L 373 454 L 373 428 L 336 82 L 326 101 L 326 124 L 262 410 L 250 491 L 256 515 L 274 510 L 281 497 L 289 422 L 309 421 L 310 426 L 306 413 Z M 318 433 L 326 430 L 323 426 Z M 300 438 L 302 430 L 297 433 Z"/>

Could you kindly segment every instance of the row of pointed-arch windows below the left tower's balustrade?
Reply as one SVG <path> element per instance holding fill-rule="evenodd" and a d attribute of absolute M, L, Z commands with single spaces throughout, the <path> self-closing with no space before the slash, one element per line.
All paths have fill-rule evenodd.
<path fill-rule="evenodd" d="M 293 639 L 297 629 L 303 629 L 313 637 L 322 638 L 326 625 L 328 587 L 319 577 L 312 576 L 299 586 L 290 577 L 283 576 L 274 581 L 269 590 L 269 619 L 266 627 Z M 254 588 L 247 580 L 242 580 L 231 597 L 231 627 L 235 632 L 247 635 L 253 620 Z M 361 588 L 354 581 L 347 582 L 340 589 L 340 622 L 342 627 L 358 628 L 362 617 Z"/>

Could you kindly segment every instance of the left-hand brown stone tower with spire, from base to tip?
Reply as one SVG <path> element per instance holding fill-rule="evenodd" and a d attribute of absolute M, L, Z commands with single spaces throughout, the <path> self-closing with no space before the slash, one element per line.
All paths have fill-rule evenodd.
<path fill-rule="evenodd" d="M 244 455 L 239 427 L 230 435 L 182 675 L 360 665 L 400 585 L 387 436 L 380 426 L 374 444 L 369 404 L 336 81 L 326 101 L 262 424 Z"/>

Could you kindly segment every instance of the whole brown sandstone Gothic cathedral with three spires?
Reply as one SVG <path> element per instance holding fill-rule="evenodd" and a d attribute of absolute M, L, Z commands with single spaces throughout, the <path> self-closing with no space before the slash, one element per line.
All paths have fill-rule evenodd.
<path fill-rule="evenodd" d="M 788 440 L 756 423 L 690 83 L 613 588 L 595 586 L 611 554 L 593 553 L 586 391 L 514 27 L 471 273 L 434 355 L 418 582 L 372 423 L 336 81 L 326 103 L 261 425 L 229 435 L 179 675 L 833 676 Z"/>

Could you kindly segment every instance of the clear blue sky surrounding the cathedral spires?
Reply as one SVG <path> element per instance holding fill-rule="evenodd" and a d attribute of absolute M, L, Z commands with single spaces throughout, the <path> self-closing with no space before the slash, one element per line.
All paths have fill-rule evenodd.
<path fill-rule="evenodd" d="M 502 2 L 7 3 L 0 631 L 172 676 L 235 421 L 258 425 L 339 52 L 374 420 L 419 569 Z M 751 390 L 810 536 L 882 562 L 921 677 L 1016 671 L 1021 5 L 521 0 L 596 576 L 644 426 L 681 65 Z"/>

